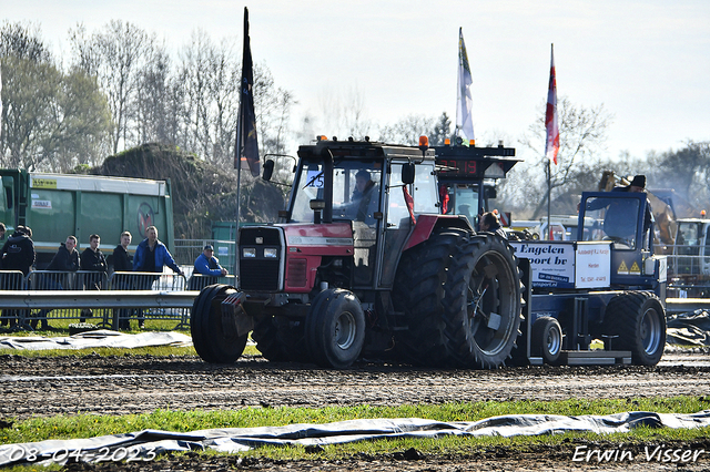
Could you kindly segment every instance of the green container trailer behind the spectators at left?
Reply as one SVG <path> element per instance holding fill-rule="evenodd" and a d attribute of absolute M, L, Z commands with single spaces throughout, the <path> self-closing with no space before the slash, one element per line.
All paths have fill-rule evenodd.
<path fill-rule="evenodd" d="M 20 170 L 0 170 L 0 220 L 12 228 L 32 228 L 38 269 L 47 267 L 69 235 L 77 237 L 81 252 L 89 247 L 89 236 L 98 234 L 103 253 L 110 255 L 121 233 L 129 230 L 133 253 L 145 228 L 155 226 L 159 239 L 171 252 L 174 248 L 170 181 Z"/>

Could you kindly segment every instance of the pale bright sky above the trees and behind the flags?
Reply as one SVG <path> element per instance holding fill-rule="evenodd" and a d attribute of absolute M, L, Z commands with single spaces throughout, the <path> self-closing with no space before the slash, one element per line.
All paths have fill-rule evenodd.
<path fill-rule="evenodd" d="M 0 0 L 0 18 L 32 21 L 54 48 L 68 30 L 130 21 L 178 50 L 202 29 L 242 42 L 245 3 L 232 0 Z M 318 115 L 326 96 L 355 93 L 366 116 L 455 117 L 458 29 L 473 73 L 478 142 L 507 145 L 539 116 L 550 43 L 558 96 L 615 115 L 608 156 L 710 140 L 708 0 L 263 0 L 250 9 L 252 54 Z M 318 134 L 332 130 L 316 130 Z M 542 143 L 540 143 L 542 146 Z"/>

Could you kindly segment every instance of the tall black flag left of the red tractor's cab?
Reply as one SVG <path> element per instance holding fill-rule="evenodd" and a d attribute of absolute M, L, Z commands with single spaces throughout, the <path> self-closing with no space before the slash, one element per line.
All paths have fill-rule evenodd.
<path fill-rule="evenodd" d="M 252 68 L 252 48 L 248 40 L 248 10 L 244 7 L 244 52 L 242 53 L 242 82 L 240 88 L 240 114 L 236 122 L 234 167 L 241 168 L 240 163 L 242 157 L 245 157 L 252 175 L 256 177 L 260 174 L 260 168 L 253 86 L 254 71 Z"/>

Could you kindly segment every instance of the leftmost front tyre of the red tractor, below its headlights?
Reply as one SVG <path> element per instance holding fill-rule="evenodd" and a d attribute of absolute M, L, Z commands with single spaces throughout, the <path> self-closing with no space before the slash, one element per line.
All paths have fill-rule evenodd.
<path fill-rule="evenodd" d="M 202 289 L 192 304 L 190 332 L 195 351 L 205 362 L 232 363 L 242 356 L 248 335 L 236 336 L 234 320 L 222 315 L 220 304 L 236 289 L 211 285 Z M 233 326 L 225 326 L 231 322 Z"/>

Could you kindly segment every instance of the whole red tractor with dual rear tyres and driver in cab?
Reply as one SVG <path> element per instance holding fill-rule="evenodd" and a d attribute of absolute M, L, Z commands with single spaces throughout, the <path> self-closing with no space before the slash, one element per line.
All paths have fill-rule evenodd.
<path fill-rule="evenodd" d="M 504 365 L 521 320 L 517 259 L 439 214 L 434 150 L 321 140 L 298 157 L 282 222 L 240 229 L 240 286 L 194 301 L 200 357 L 234 362 L 251 332 L 272 361 Z"/>

